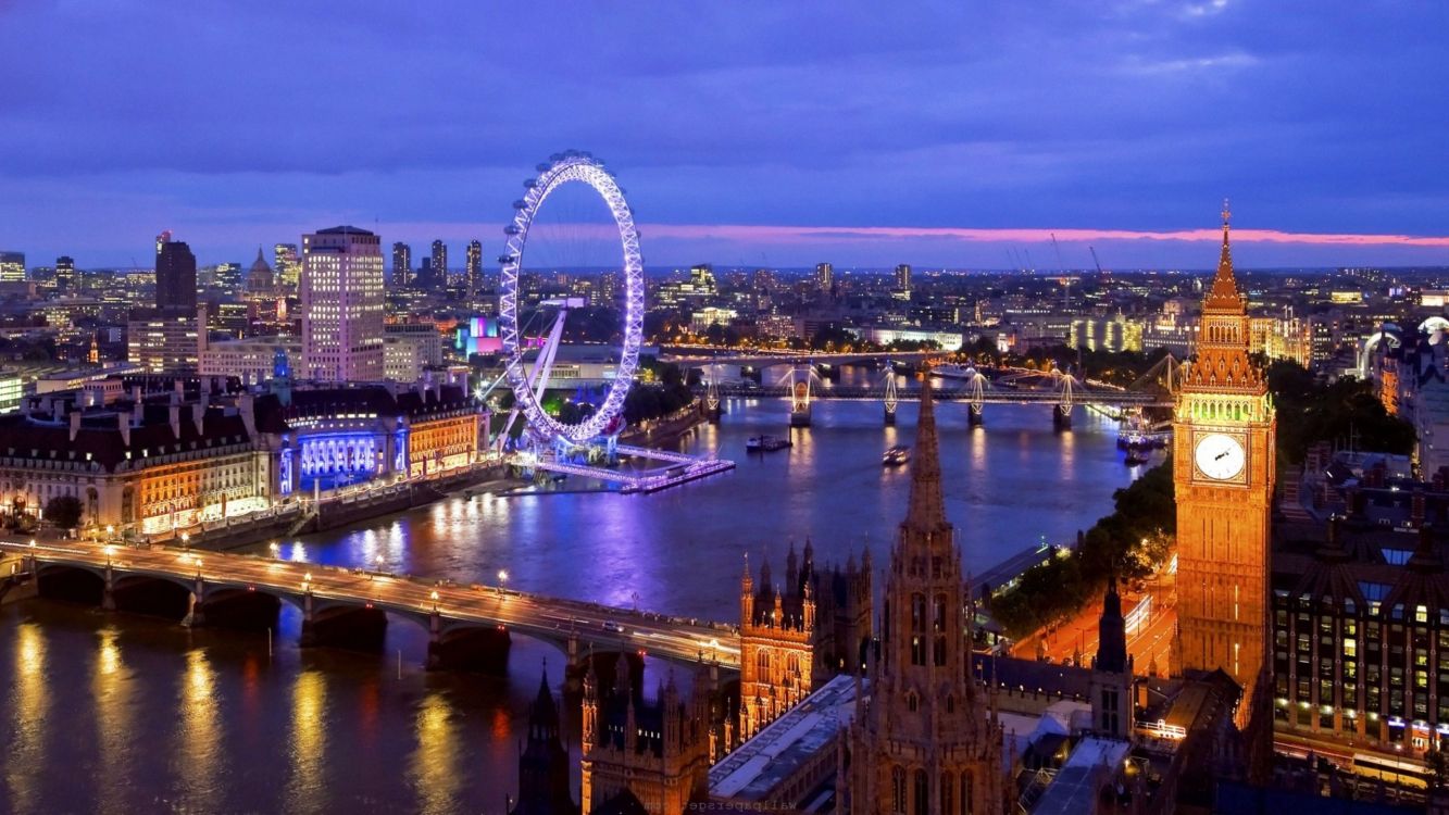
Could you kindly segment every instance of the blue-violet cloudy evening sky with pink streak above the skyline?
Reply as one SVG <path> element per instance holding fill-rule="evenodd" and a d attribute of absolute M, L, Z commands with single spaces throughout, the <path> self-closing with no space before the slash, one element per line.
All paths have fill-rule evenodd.
<path fill-rule="evenodd" d="M 146 265 L 170 229 L 246 263 L 354 223 L 491 259 L 574 148 L 652 266 L 1208 268 L 1223 198 L 1245 268 L 1449 265 L 1446 32 L 1379 0 L 0 0 L 0 249 Z"/>

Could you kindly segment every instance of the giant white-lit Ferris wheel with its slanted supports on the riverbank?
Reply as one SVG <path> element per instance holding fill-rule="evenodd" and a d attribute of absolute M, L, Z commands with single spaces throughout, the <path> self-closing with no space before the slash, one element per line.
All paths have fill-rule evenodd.
<path fill-rule="evenodd" d="M 529 433 L 539 443 L 554 446 L 587 444 L 601 436 L 614 436 L 623 428 L 623 405 L 633 385 L 639 366 L 639 346 L 643 334 L 643 256 L 639 253 L 639 230 L 635 227 L 633 211 L 625 201 L 623 190 L 604 164 L 581 151 L 567 151 L 549 156 L 538 165 L 538 178 L 523 182 L 527 190 L 523 198 L 513 203 L 513 223 L 503 229 L 507 248 L 498 258 L 503 265 L 498 297 L 498 323 L 503 334 L 503 353 L 507 356 L 504 379 L 514 397 L 514 411 L 527 421 Z M 548 197 L 565 184 L 587 184 L 603 198 L 619 229 L 619 246 L 623 255 L 625 278 L 623 346 L 619 353 L 619 368 L 598 408 L 582 421 L 567 424 L 543 410 L 542 397 L 548 385 L 554 358 L 564 333 L 564 320 L 569 308 L 582 305 L 567 298 L 545 301 L 556 307 L 548 340 L 539 349 L 532 371 L 525 368 L 523 327 L 519 321 L 519 272 L 525 268 L 529 227 L 533 224 Z"/>

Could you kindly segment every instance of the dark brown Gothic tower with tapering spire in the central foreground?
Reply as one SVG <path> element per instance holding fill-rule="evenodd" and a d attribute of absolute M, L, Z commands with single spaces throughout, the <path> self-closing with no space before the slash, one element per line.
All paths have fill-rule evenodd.
<path fill-rule="evenodd" d="M 966 576 L 946 520 L 930 379 L 922 385 L 910 504 L 891 549 L 869 699 L 849 731 L 838 812 L 1014 811 L 995 689 L 971 670 Z"/>

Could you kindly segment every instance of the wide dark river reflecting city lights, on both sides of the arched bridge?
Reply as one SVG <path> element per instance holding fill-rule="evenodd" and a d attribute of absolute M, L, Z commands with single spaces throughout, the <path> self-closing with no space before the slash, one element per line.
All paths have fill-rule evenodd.
<path fill-rule="evenodd" d="M 791 540 L 810 537 L 817 566 L 868 544 L 882 569 L 909 472 L 882 468 L 881 452 L 914 442 L 914 405 L 891 428 L 880 404 L 820 401 L 794 447 L 752 456 L 749 436 L 785 434 L 785 404 L 727 407 L 678 444 L 739 463 L 709 481 L 646 497 L 456 497 L 281 541 L 280 554 L 346 566 L 381 556 L 387 570 L 488 585 L 503 569 L 516 589 L 730 622 L 745 552 L 782 576 Z M 1081 408 L 1066 433 L 1053 433 L 1043 405 L 988 405 L 975 430 L 965 410 L 942 404 L 938 424 L 946 511 L 974 572 L 1043 537 L 1071 540 L 1140 472 L 1123 466 L 1114 426 Z M 503 812 L 545 662 L 555 692 L 562 679 L 555 649 L 520 637 L 506 676 L 429 673 L 426 635 L 410 624 L 388 627 L 384 653 L 303 650 L 298 630 L 285 604 L 270 641 L 52 601 L 0 609 L 0 803 Z M 651 692 L 667 670 L 649 663 Z M 565 722 L 577 756 L 577 711 Z M 575 761 L 575 789 L 577 773 Z"/>

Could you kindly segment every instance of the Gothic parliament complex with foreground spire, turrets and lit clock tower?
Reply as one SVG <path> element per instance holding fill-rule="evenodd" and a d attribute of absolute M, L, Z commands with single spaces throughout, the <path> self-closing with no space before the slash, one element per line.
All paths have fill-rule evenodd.
<path fill-rule="evenodd" d="M 671 675 L 651 699 L 629 660 L 617 660 L 611 682 L 590 663 L 574 808 L 569 773 L 552 767 L 567 751 L 545 685 L 511 812 L 1206 812 L 1224 780 L 1249 789 L 1252 767 L 1272 750 L 1275 418 L 1248 356 L 1229 235 L 1224 208 L 1197 362 L 1172 417 L 1171 677 L 1135 673 L 1116 580 L 1090 664 L 974 649 L 980 609 L 962 549 L 991 541 L 946 515 L 927 376 L 880 605 L 868 550 L 822 567 L 811 541 L 801 556 L 791 544 L 782 582 L 767 562 L 752 572 L 746 559 L 738 688 L 701 664 L 687 689 Z"/>

